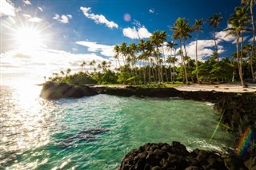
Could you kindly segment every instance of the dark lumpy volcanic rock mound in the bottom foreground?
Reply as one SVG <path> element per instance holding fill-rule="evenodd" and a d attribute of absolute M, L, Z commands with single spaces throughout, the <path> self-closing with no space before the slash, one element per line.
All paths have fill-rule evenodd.
<path fill-rule="evenodd" d="M 177 152 L 178 151 L 178 152 Z M 168 155 L 168 156 L 167 156 Z M 194 160 L 197 161 L 194 164 Z M 129 152 L 123 159 L 119 170 L 132 169 L 247 169 L 238 157 L 223 160 L 216 152 L 196 149 L 188 152 L 179 142 L 169 144 L 145 144 Z"/>

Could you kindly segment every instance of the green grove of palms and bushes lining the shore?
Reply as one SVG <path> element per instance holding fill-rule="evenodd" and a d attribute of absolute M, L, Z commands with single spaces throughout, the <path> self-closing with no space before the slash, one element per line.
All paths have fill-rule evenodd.
<path fill-rule="evenodd" d="M 170 28 L 172 34 L 156 30 L 148 39 L 140 39 L 138 44 L 122 42 L 114 46 L 115 67 L 111 62 L 95 60 L 82 61 L 81 71 L 70 74 L 71 70 L 53 73 L 49 81 L 70 84 L 130 84 L 150 85 L 162 83 L 184 84 L 240 81 L 255 82 L 256 53 L 254 29 L 254 0 L 242 0 L 241 6 L 234 9 L 228 19 L 229 26 L 224 30 L 226 36 L 235 36 L 236 51 L 231 56 L 220 57 L 216 31 L 223 18 L 214 14 L 207 20 L 196 19 L 191 26 L 186 18 L 178 18 Z M 198 34 L 203 34 L 202 25 L 213 28 L 214 52 L 205 61 L 198 59 Z M 187 53 L 186 45 L 192 35 L 196 36 L 195 60 Z M 253 37 L 245 44 L 245 34 Z M 167 38 L 172 38 L 167 41 Z M 86 69 L 90 68 L 90 69 Z"/>

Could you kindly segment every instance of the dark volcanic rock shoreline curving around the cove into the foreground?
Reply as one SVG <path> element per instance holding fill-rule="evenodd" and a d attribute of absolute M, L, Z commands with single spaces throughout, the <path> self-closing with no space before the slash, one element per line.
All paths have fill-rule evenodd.
<path fill-rule="evenodd" d="M 108 95 L 116 95 L 122 97 L 180 97 L 182 99 L 187 100 L 195 100 L 195 101 L 209 101 L 214 103 L 214 108 L 218 110 L 219 113 L 222 113 L 222 127 L 226 128 L 231 132 L 234 132 L 234 135 L 237 139 L 237 146 L 234 146 L 236 150 L 231 152 L 229 156 L 227 156 L 226 160 L 222 157 L 222 155 L 217 154 L 215 152 L 202 151 L 199 149 L 195 149 L 193 152 L 186 152 L 187 155 L 177 155 L 176 152 L 169 152 L 170 154 L 176 154 L 173 157 L 174 160 L 168 160 L 170 156 L 168 156 L 168 168 L 164 168 L 162 162 L 166 162 L 166 157 L 161 157 L 158 161 L 158 164 L 154 166 L 150 165 L 152 169 L 256 169 L 256 93 L 224 93 L 224 92 L 216 92 L 216 91 L 179 91 L 174 88 L 148 88 L 142 89 L 138 87 L 128 86 L 126 88 L 117 88 L 117 87 L 106 87 L 106 86 L 78 86 L 78 85 L 67 85 L 67 84 L 56 84 L 56 83 L 47 83 L 43 85 L 41 97 L 46 99 L 59 99 L 65 97 L 84 97 L 84 96 L 93 96 L 97 94 L 108 94 Z M 240 145 L 239 145 L 240 144 Z M 155 144 L 153 144 L 155 145 Z M 159 144 L 158 144 L 159 145 Z M 160 144 L 161 145 L 161 144 Z M 159 145 L 159 147 L 160 147 Z M 168 148 L 176 149 L 176 146 L 182 147 L 183 145 L 178 142 L 174 142 L 172 146 L 167 146 Z M 144 150 L 142 149 L 144 147 Z M 147 152 L 145 146 L 138 148 L 138 151 L 131 151 L 128 153 L 122 160 L 122 164 L 120 169 L 150 169 L 146 168 L 146 164 L 150 164 L 148 161 L 152 159 L 147 159 L 145 163 L 145 156 L 141 156 L 142 152 Z M 158 147 L 158 149 L 160 149 Z M 163 146 L 161 145 L 161 148 Z M 186 148 L 186 147 L 185 147 Z M 154 151 L 152 151 L 154 152 Z M 207 154 L 200 154 L 207 153 Z M 166 152 L 164 155 L 168 155 Z M 169 154 L 169 155 L 170 155 Z M 192 164 L 190 160 L 187 160 L 188 157 L 193 157 L 196 159 L 197 156 L 204 157 L 202 162 L 199 161 L 197 164 Z M 142 157 L 142 159 L 139 158 Z M 147 157 L 148 155 L 146 155 Z M 178 157 L 177 157 L 178 156 Z M 210 162 L 208 161 L 208 157 L 210 156 Z M 129 158 L 129 159 L 128 159 Z M 139 160 L 138 160 L 139 158 Z M 128 159 L 128 160 L 127 160 Z M 178 166 L 176 160 L 183 159 L 182 163 L 188 165 L 185 167 Z M 214 163 L 211 161 L 214 159 Z M 198 161 L 198 160 L 197 160 Z M 217 163 L 216 163 L 217 161 Z M 144 168 L 135 168 L 135 165 L 141 164 L 144 162 Z M 208 164 L 208 163 L 209 164 Z M 181 163 L 181 162 L 180 162 Z M 181 163 L 181 164 L 182 164 Z M 207 163 L 207 164 L 205 164 Z M 240 164 L 238 168 L 238 163 Z M 166 163 L 167 164 L 167 163 Z M 226 168 L 220 168 L 217 165 L 213 164 L 221 164 Z M 166 166 L 166 165 L 165 165 Z M 138 165 L 137 165 L 138 167 Z"/>

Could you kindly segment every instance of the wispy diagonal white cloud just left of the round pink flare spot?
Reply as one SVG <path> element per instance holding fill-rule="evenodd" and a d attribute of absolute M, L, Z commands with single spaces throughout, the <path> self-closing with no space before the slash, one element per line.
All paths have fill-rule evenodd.
<path fill-rule="evenodd" d="M 118 28 L 118 24 L 114 22 L 110 22 L 106 19 L 106 17 L 102 14 L 89 14 L 90 12 L 90 7 L 80 7 L 80 10 L 82 10 L 82 13 L 86 16 L 86 18 L 90 18 L 94 20 L 96 24 L 105 24 L 107 27 L 113 29 L 113 28 Z"/>

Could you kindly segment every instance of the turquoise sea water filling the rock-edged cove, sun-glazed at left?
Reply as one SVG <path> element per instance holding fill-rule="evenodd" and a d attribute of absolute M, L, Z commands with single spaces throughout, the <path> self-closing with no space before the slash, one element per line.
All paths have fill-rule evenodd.
<path fill-rule="evenodd" d="M 205 102 L 108 95 L 46 101 L 40 89 L 1 87 L 0 169 L 116 169 L 147 142 L 218 151 L 233 145 L 221 129 L 208 143 L 219 115 Z"/>

